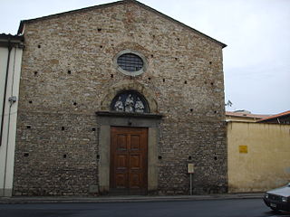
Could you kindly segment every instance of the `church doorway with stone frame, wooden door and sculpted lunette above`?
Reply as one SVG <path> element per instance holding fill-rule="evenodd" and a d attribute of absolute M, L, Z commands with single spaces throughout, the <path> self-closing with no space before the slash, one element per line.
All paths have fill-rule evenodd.
<path fill-rule="evenodd" d="M 158 188 L 161 115 L 137 90 L 121 90 L 96 112 L 100 123 L 100 193 L 147 194 Z"/>

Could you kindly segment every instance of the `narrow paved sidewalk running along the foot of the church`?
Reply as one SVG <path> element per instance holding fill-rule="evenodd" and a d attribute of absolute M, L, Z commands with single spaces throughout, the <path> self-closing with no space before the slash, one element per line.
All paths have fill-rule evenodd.
<path fill-rule="evenodd" d="M 226 193 L 210 195 L 174 196 L 96 196 L 96 197 L 0 197 L 0 203 L 129 203 L 129 202 L 169 202 L 261 199 L 264 193 Z"/>

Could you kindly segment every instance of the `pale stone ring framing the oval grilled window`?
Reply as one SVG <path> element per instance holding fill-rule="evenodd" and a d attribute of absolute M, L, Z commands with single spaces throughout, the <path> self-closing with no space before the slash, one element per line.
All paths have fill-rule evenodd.
<path fill-rule="evenodd" d="M 118 59 L 124 54 L 133 54 L 133 55 L 138 56 L 140 58 L 140 60 L 143 61 L 142 68 L 140 68 L 140 70 L 138 70 L 138 71 L 123 70 L 121 68 L 121 66 L 118 64 Z M 124 50 L 124 51 L 119 52 L 114 58 L 114 64 L 115 64 L 115 67 L 117 68 L 118 71 L 120 71 L 121 73 L 123 73 L 125 75 L 129 75 L 129 76 L 137 76 L 137 75 L 142 74 L 144 71 L 147 70 L 147 66 L 148 66 L 148 62 L 147 62 L 145 56 L 142 55 L 140 52 L 136 52 L 136 51 L 132 51 L 132 50 Z"/>

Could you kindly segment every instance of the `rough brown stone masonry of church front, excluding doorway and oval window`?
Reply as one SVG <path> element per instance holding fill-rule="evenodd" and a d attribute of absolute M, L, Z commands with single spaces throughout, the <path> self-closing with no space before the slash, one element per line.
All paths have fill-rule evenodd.
<path fill-rule="evenodd" d="M 88 195 L 98 185 L 95 112 L 121 82 L 150 90 L 164 115 L 158 193 L 189 193 L 189 162 L 194 193 L 227 191 L 220 44 L 130 2 L 28 22 L 24 38 L 15 195 Z M 126 49 L 146 57 L 146 72 L 116 70 Z"/>

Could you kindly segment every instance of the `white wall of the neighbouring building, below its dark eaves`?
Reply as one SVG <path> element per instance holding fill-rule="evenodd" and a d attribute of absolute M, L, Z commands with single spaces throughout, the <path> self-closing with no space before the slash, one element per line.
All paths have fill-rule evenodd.
<path fill-rule="evenodd" d="M 2 143 L 0 146 L 0 196 L 11 196 L 13 189 L 14 148 L 22 52 L 21 48 L 16 47 L 10 52 L 5 113 L 2 114 L 8 48 L 0 47 L 0 124 L 4 115 Z M 10 104 L 8 99 L 12 96 L 15 96 L 17 100 L 15 103 Z"/>

